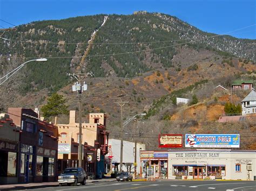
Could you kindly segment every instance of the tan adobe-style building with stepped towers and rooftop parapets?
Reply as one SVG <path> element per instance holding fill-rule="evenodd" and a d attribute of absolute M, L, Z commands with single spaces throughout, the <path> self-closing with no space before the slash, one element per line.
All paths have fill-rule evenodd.
<path fill-rule="evenodd" d="M 58 173 L 67 167 L 78 166 L 79 123 L 76 123 L 76 111 L 70 111 L 69 124 L 57 124 Z M 105 114 L 89 114 L 89 123 L 82 123 L 83 161 L 87 176 L 102 178 L 105 172 L 105 154 L 108 150 L 109 132 L 106 131 Z M 97 160 L 97 150 L 100 160 Z M 99 153 L 99 152 L 98 152 Z"/>

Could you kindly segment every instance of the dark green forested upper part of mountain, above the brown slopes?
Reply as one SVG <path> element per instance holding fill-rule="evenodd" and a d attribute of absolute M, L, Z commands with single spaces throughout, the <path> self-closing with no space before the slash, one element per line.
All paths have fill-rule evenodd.
<path fill-rule="evenodd" d="M 187 67 L 199 59 L 193 54 L 205 49 L 217 55 L 256 60 L 256 40 L 206 33 L 169 15 L 139 11 L 109 15 L 105 22 L 104 18 L 96 15 L 20 25 L 4 34 L 9 40 L 0 41 L 2 69 L 15 57 L 20 63 L 49 58 L 42 65 L 28 64 L 21 88 L 26 92 L 60 89 L 68 84 L 69 72 L 134 77 L 157 68 Z M 190 51 L 183 55 L 186 63 L 182 63 L 176 55 L 185 47 Z"/>

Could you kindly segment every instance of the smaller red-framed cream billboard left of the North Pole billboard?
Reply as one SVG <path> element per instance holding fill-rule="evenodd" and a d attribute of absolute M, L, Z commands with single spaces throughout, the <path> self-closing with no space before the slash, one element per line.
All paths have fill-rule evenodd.
<path fill-rule="evenodd" d="M 159 147 L 182 147 L 182 135 L 159 135 Z"/>

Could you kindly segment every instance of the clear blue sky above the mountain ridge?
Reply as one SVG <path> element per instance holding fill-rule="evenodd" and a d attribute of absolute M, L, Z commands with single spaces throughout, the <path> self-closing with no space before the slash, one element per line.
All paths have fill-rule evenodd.
<path fill-rule="evenodd" d="M 36 20 L 146 10 L 176 16 L 198 29 L 256 39 L 256 0 L 0 0 L 0 19 L 14 25 Z M 0 27 L 11 27 L 0 20 Z"/>

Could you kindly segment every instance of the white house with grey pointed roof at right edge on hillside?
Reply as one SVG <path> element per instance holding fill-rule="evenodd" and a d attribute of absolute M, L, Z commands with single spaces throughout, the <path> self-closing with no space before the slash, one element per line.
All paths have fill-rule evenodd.
<path fill-rule="evenodd" d="M 242 115 L 255 114 L 256 113 L 256 93 L 254 90 L 248 94 L 242 103 Z"/>

